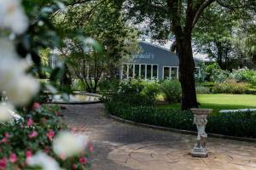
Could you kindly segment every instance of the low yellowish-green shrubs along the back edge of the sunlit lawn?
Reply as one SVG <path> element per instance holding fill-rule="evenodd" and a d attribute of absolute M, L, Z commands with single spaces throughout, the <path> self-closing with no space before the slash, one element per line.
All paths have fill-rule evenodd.
<path fill-rule="evenodd" d="M 214 94 L 246 94 L 248 84 L 245 82 L 227 81 L 216 83 L 212 88 Z"/>

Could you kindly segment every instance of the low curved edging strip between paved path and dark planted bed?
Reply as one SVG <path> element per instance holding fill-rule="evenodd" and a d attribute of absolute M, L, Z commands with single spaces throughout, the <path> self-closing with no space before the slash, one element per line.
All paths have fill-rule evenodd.
<path fill-rule="evenodd" d="M 125 123 L 139 126 L 139 127 L 148 127 L 148 128 L 158 129 L 158 130 L 165 130 L 165 131 L 169 131 L 169 132 L 173 132 L 173 133 L 197 135 L 197 132 L 194 132 L 194 131 L 181 130 L 181 129 L 171 128 L 171 127 L 160 127 L 160 126 L 155 126 L 155 125 L 150 125 L 150 124 L 145 124 L 145 123 L 140 123 L 140 122 L 132 122 L 132 121 L 128 121 L 123 118 L 120 118 L 119 116 L 113 116 L 112 114 L 109 114 L 109 113 L 107 113 L 107 115 L 108 115 L 108 117 L 112 118 L 113 120 L 115 120 L 117 122 L 125 122 Z M 256 139 L 251 139 L 251 138 L 227 136 L 227 135 L 215 134 L 215 133 L 207 133 L 207 134 L 209 137 L 218 138 L 218 139 L 231 139 L 231 140 L 238 140 L 238 141 L 243 141 L 243 142 L 256 142 Z"/>

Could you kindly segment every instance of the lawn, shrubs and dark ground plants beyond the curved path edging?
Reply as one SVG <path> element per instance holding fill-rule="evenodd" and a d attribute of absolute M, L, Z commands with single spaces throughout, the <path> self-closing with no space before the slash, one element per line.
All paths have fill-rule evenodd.
<path fill-rule="evenodd" d="M 256 96 L 253 94 L 256 72 L 245 69 L 229 72 L 218 67 L 212 71 L 212 67 L 216 64 L 201 70 L 202 77 L 196 83 L 199 107 L 213 109 L 208 117 L 207 132 L 255 138 L 256 113 L 236 110 L 256 108 Z M 196 131 L 191 111 L 180 109 L 180 82 L 131 79 L 109 84 L 102 88 L 109 114 L 133 122 Z"/>

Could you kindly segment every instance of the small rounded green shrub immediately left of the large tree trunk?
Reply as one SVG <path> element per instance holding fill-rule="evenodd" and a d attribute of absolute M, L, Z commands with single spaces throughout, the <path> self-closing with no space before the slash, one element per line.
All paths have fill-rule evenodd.
<path fill-rule="evenodd" d="M 161 91 L 165 94 L 166 101 L 174 103 L 180 101 L 182 88 L 180 82 L 165 80 L 160 84 Z"/>

